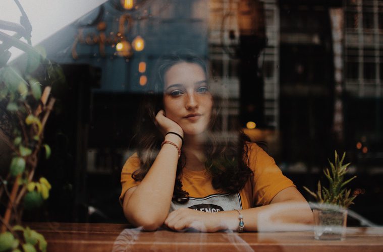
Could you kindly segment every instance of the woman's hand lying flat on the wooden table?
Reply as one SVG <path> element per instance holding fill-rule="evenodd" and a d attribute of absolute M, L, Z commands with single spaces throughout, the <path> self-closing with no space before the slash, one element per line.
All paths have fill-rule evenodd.
<path fill-rule="evenodd" d="M 226 229 L 218 221 L 216 213 L 206 213 L 190 208 L 180 208 L 171 212 L 164 224 L 169 228 L 181 231 L 185 228 L 194 228 L 201 232 L 216 232 Z"/>

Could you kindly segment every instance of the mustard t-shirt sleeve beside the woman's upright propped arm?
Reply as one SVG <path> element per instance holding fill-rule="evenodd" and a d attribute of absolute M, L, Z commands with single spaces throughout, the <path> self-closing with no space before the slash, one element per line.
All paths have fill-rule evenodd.
<path fill-rule="evenodd" d="M 140 159 L 137 156 L 137 153 L 134 153 L 128 160 L 126 160 L 124 167 L 121 171 L 121 195 L 120 195 L 120 204 L 122 205 L 125 197 L 126 191 L 130 188 L 140 184 L 140 181 L 135 181 L 132 178 L 132 173 L 140 167 Z"/>

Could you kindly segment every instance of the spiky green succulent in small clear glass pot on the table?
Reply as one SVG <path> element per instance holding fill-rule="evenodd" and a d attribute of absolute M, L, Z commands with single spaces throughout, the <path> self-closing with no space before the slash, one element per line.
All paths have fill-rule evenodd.
<path fill-rule="evenodd" d="M 351 189 L 345 185 L 356 176 L 345 180 L 347 167 L 350 163 L 343 164 L 346 153 L 340 159 L 335 151 L 335 164 L 329 160 L 329 168 L 323 170 L 329 180 L 329 187 L 321 186 L 318 181 L 316 193 L 311 192 L 306 186 L 305 190 L 312 195 L 317 204 L 312 204 L 314 213 L 314 237 L 318 240 L 346 238 L 347 209 L 353 204 L 357 195 L 351 195 Z"/>

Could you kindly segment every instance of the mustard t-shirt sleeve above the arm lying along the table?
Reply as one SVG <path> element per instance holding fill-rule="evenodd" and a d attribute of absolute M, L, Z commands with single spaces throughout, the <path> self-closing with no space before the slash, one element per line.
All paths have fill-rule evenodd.
<path fill-rule="evenodd" d="M 249 167 L 254 172 L 253 202 L 255 206 L 268 205 L 279 192 L 295 185 L 262 148 L 254 143 L 249 146 Z"/>

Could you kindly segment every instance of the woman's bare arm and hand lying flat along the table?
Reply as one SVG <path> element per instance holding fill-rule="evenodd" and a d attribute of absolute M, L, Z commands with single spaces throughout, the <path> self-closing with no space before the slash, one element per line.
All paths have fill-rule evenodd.
<path fill-rule="evenodd" d="M 312 211 L 294 187 L 279 192 L 270 205 L 240 210 L 245 231 L 298 231 L 309 229 L 313 223 Z M 178 209 L 169 214 L 165 224 L 174 230 L 195 228 L 204 232 L 237 230 L 237 211 L 205 213 L 192 209 Z"/>

